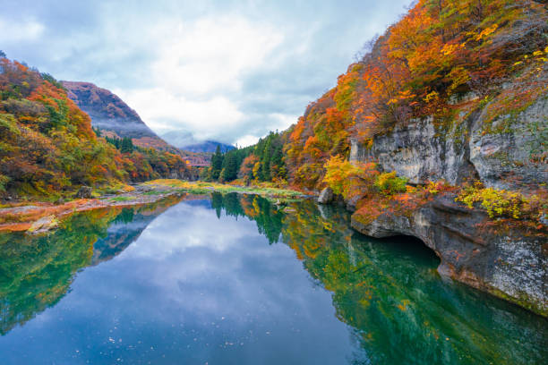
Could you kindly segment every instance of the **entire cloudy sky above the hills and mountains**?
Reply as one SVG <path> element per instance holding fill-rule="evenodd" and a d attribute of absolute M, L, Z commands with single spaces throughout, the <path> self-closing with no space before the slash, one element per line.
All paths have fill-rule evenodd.
<path fill-rule="evenodd" d="M 295 123 L 409 0 L 0 0 L 0 49 L 110 89 L 158 134 L 247 145 Z"/>

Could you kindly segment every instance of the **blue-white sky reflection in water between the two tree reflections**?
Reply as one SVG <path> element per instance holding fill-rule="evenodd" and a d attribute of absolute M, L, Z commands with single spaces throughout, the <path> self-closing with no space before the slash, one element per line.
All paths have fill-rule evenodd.
<path fill-rule="evenodd" d="M 33 359 L 39 343 L 67 363 L 86 348 L 126 363 L 166 355 L 222 364 L 345 363 L 355 349 L 330 293 L 311 284 L 293 250 L 269 245 L 244 216 L 218 219 L 196 202 L 168 209 L 119 256 L 86 268 L 39 318 L 11 333 L 12 347 Z"/>

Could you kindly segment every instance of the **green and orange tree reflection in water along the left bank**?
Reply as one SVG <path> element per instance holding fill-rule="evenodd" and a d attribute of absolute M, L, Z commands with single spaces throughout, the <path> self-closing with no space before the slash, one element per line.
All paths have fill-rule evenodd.
<path fill-rule="evenodd" d="M 135 225 L 122 235 L 110 233 L 117 223 L 145 220 L 147 225 L 167 206 L 180 199 L 140 208 L 107 208 L 83 212 L 47 235 L 0 234 L 0 334 L 23 324 L 51 307 L 67 293 L 74 274 L 100 260 L 111 259 L 141 233 L 146 225 Z M 119 230 L 118 232 L 124 232 Z M 94 244 L 99 244 L 94 251 Z M 104 250 L 109 247 L 111 250 Z M 103 249 L 103 251 L 101 251 Z"/>

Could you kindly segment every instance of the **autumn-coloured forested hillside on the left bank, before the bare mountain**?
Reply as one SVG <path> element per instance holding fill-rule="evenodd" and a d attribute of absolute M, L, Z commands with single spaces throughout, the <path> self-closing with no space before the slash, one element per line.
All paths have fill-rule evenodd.
<path fill-rule="evenodd" d="M 52 76 L 0 57 L 0 193 L 57 196 L 81 185 L 116 186 L 184 177 L 185 161 L 98 138 L 90 116 Z"/>

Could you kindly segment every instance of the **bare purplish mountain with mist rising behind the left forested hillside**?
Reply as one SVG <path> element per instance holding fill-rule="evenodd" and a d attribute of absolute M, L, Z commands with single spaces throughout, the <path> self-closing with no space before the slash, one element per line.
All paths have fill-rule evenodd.
<path fill-rule="evenodd" d="M 91 125 L 104 136 L 129 137 L 135 146 L 169 151 L 188 159 L 193 165 L 204 165 L 209 157 L 181 150 L 170 145 L 150 130 L 141 117 L 124 100 L 91 82 L 61 81 L 69 98 L 91 117 Z"/>

